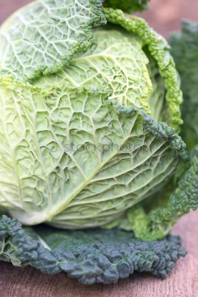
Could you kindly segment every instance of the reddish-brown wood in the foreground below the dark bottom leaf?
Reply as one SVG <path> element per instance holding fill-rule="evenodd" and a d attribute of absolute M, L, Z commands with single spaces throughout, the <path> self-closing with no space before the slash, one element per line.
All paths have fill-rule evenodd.
<path fill-rule="evenodd" d="M 134 273 L 116 284 L 81 285 L 63 272 L 55 276 L 33 267 L 18 268 L 0 263 L 1 297 L 197 297 L 198 296 L 198 211 L 183 216 L 172 234 L 180 234 L 188 255 L 178 260 L 167 279 L 150 273 Z"/>

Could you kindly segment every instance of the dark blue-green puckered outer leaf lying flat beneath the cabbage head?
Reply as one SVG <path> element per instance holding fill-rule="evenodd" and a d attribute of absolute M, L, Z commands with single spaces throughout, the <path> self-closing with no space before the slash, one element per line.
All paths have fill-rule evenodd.
<path fill-rule="evenodd" d="M 186 255 L 179 236 L 140 241 L 132 232 L 118 229 L 65 231 L 40 225 L 24 231 L 7 216 L 0 221 L 0 248 L 1 260 L 51 275 L 64 271 L 85 285 L 114 283 L 135 270 L 166 278 L 178 258 Z"/>

